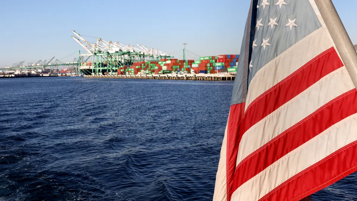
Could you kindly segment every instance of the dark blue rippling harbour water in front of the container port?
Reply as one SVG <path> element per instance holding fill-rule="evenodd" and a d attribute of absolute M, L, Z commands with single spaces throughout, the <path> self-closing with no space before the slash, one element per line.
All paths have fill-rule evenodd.
<path fill-rule="evenodd" d="M 212 200 L 232 87 L 0 79 L 0 200 Z M 313 200 L 357 201 L 357 174 Z"/>

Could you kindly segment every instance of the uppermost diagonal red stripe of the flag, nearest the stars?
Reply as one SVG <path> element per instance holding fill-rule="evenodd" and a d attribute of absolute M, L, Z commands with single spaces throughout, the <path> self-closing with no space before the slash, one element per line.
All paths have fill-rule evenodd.
<path fill-rule="evenodd" d="M 321 53 L 256 98 L 247 108 L 242 123 L 242 132 L 245 133 L 254 124 L 342 66 L 343 63 L 333 47 Z"/>

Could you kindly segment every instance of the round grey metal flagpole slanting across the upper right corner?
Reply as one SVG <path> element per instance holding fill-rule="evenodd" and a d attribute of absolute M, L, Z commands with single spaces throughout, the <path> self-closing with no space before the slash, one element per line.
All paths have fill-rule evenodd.
<path fill-rule="evenodd" d="M 353 84 L 357 88 L 357 53 L 350 37 L 338 16 L 331 0 L 315 0 L 318 10 L 325 22 L 332 40 L 340 53 L 342 62 L 345 64 Z"/>

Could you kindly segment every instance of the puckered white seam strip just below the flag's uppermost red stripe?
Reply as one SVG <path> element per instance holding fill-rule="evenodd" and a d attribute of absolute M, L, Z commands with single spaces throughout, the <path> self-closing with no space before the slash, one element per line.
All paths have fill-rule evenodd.
<path fill-rule="evenodd" d="M 343 68 L 343 67 L 341 67 L 341 68 Z M 313 86 L 316 86 L 316 85 L 321 85 L 323 81 L 325 81 L 326 79 L 328 79 L 328 78 L 334 76 L 335 74 L 337 74 L 337 72 L 338 72 L 341 68 L 338 68 L 338 69 L 334 70 L 333 72 L 331 72 L 330 74 L 327 74 L 325 77 L 321 78 L 320 80 L 318 80 L 318 82 L 314 83 L 313 85 L 311 85 L 311 86 L 308 87 L 307 89 L 309 89 L 309 88 L 311 88 L 311 87 L 313 87 Z M 307 89 L 306 89 L 306 90 L 307 90 Z M 306 93 L 306 90 L 304 90 L 304 91 L 301 92 L 300 94 L 296 95 L 293 99 L 291 99 L 291 100 L 289 100 L 288 102 L 286 102 L 284 105 L 282 105 L 281 107 L 279 107 L 278 109 L 276 109 L 274 112 L 270 113 L 268 116 L 266 116 L 265 118 L 263 118 L 261 121 L 259 121 L 258 123 L 256 123 L 256 124 L 253 125 L 253 126 L 257 127 L 257 126 L 259 126 L 260 124 L 265 123 L 265 122 L 267 122 L 268 120 L 270 120 L 271 118 L 273 118 L 273 117 L 272 117 L 272 114 L 277 113 L 277 112 L 281 112 L 281 110 L 285 109 L 285 108 L 288 107 L 290 104 L 292 104 L 292 103 L 298 101 L 298 100 L 299 100 L 298 98 L 299 98 L 300 96 L 304 95 L 304 94 Z M 346 93 L 346 92 L 344 92 L 344 93 Z M 279 110 L 279 111 L 278 111 L 278 110 Z M 253 126 L 252 126 L 252 127 L 253 127 Z M 241 138 L 241 141 L 240 141 L 240 143 L 239 143 L 239 146 L 241 146 L 241 143 L 243 142 L 243 139 L 247 138 L 247 136 L 248 136 L 247 133 L 250 132 L 250 129 L 251 129 L 252 127 L 250 127 L 250 128 L 243 134 L 243 136 L 242 136 L 242 138 Z"/>

